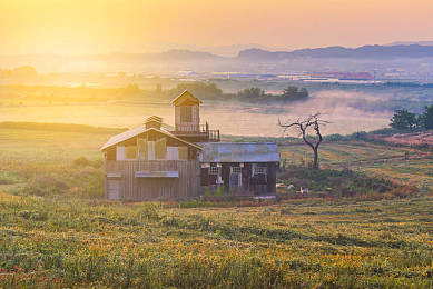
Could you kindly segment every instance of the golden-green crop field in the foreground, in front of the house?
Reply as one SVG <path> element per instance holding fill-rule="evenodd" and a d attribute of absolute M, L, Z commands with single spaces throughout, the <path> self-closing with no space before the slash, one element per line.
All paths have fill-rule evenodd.
<path fill-rule="evenodd" d="M 433 199 L 159 208 L 0 195 L 0 287 L 431 288 Z"/>

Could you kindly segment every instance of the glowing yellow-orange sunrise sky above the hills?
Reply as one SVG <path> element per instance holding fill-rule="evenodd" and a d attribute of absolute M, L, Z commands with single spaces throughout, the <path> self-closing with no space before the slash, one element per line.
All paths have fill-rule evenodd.
<path fill-rule="evenodd" d="M 432 0 L 0 0 L 0 54 L 433 40 Z"/>

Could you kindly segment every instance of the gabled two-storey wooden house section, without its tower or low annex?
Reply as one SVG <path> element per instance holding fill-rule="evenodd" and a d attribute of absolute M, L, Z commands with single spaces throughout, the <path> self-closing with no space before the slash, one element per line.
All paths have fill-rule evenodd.
<path fill-rule="evenodd" d="M 161 128 L 158 118 L 112 137 L 104 147 L 106 197 L 114 200 L 199 196 L 201 148 Z"/>

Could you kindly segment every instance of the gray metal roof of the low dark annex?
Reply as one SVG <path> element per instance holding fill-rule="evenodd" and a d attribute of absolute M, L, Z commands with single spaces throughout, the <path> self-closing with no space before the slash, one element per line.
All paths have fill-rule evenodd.
<path fill-rule="evenodd" d="M 274 142 L 199 142 L 201 162 L 278 162 Z"/>

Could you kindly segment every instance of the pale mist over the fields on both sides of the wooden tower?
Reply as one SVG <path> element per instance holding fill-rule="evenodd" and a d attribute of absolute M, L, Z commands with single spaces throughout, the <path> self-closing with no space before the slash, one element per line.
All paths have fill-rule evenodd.
<path fill-rule="evenodd" d="M 294 103 L 239 103 L 204 101 L 201 122 L 208 121 L 223 134 L 281 137 L 277 126 L 309 113 L 321 112 L 329 121 L 324 133 L 352 133 L 384 128 L 391 111 L 372 109 L 383 100 L 382 94 L 344 91 L 319 91 L 311 99 Z M 366 109 L 367 108 L 367 109 Z M 174 123 L 174 109 L 169 101 L 159 103 L 71 103 L 0 106 L 0 121 L 59 122 L 98 127 L 136 127 L 149 116 L 160 116 L 167 124 Z"/>

